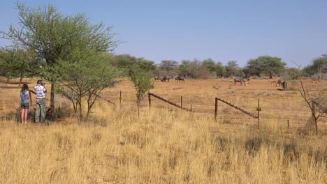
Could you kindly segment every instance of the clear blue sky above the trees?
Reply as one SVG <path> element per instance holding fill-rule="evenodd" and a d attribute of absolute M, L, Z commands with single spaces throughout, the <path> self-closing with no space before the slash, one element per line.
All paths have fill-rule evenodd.
<path fill-rule="evenodd" d="M 17 22 L 16 1 L 1 1 L 0 30 Z M 212 58 L 245 66 L 261 55 L 288 66 L 307 66 L 327 53 L 327 0 L 29 0 L 51 3 L 61 13 L 85 13 L 93 23 L 112 26 L 124 43 L 115 54 L 155 63 Z M 0 46 L 8 45 L 0 39 Z"/>

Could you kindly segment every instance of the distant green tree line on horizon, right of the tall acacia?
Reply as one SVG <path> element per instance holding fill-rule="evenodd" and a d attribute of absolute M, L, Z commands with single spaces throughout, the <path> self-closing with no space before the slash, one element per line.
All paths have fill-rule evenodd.
<path fill-rule="evenodd" d="M 152 73 L 154 76 L 182 76 L 193 79 L 209 79 L 215 77 L 284 77 L 296 79 L 299 72 L 306 77 L 320 77 L 327 73 L 327 55 L 314 59 L 312 64 L 299 68 L 287 68 L 286 63 L 276 56 L 258 56 L 256 59 L 249 59 L 245 67 L 240 67 L 238 61 L 228 61 L 224 65 L 221 61 L 213 59 L 182 60 L 180 63 L 173 60 L 163 60 L 161 63 L 154 63 L 144 58 L 137 58 L 129 54 L 113 56 L 110 63 L 119 68 L 122 75 L 128 75 L 131 68 L 140 68 Z"/>

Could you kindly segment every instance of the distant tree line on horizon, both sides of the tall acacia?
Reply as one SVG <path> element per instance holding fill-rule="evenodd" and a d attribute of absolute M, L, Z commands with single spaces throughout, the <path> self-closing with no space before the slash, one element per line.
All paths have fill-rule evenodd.
<path fill-rule="evenodd" d="M 141 69 L 150 72 L 153 76 L 182 76 L 193 79 L 209 79 L 215 77 L 284 77 L 296 79 L 301 72 L 305 77 L 323 78 L 327 73 L 327 55 L 314 59 L 312 63 L 299 68 L 287 68 L 286 63 L 276 56 L 259 56 L 249 59 L 245 67 L 240 67 L 238 61 L 228 61 L 224 65 L 221 61 L 213 59 L 182 60 L 180 63 L 173 60 L 163 60 L 154 63 L 144 58 L 138 58 L 129 54 L 108 56 L 108 63 L 117 68 L 121 77 L 129 76 L 133 69 Z M 40 75 L 35 68 L 40 67 L 42 61 L 32 53 L 31 50 L 18 49 L 17 47 L 6 47 L 0 49 L 0 75 L 10 78 L 32 77 Z"/>

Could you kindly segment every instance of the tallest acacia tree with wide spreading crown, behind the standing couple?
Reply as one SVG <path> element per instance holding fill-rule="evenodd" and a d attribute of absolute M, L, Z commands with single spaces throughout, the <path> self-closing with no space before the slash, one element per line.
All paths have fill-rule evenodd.
<path fill-rule="evenodd" d="M 76 48 L 98 52 L 112 51 L 117 42 L 112 40 L 110 28 L 103 24 L 91 24 L 85 15 L 63 15 L 54 6 L 31 8 L 17 3 L 17 27 L 1 31 L 3 38 L 24 49 L 32 49 L 43 68 L 41 76 L 51 84 L 50 111 L 54 117 L 54 87 L 58 75 L 54 71 L 59 60 L 69 58 Z"/>

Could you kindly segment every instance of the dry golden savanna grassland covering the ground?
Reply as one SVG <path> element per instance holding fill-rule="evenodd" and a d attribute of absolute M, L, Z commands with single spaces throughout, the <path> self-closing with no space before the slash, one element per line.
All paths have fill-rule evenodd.
<path fill-rule="evenodd" d="M 31 88 L 36 80 L 24 82 Z M 56 121 L 23 125 L 15 119 L 17 82 L 0 81 L 0 183 L 327 183 L 326 119 L 314 135 L 310 110 L 291 85 L 154 82 L 152 93 L 177 104 L 182 95 L 192 112 L 153 97 L 149 109 L 146 97 L 138 119 L 133 85 L 121 79 L 102 93 L 115 105 L 99 99 L 87 123 L 69 115 L 72 107 L 57 95 Z M 215 121 L 215 97 L 253 114 L 260 99 L 259 127 L 222 102 Z"/>

